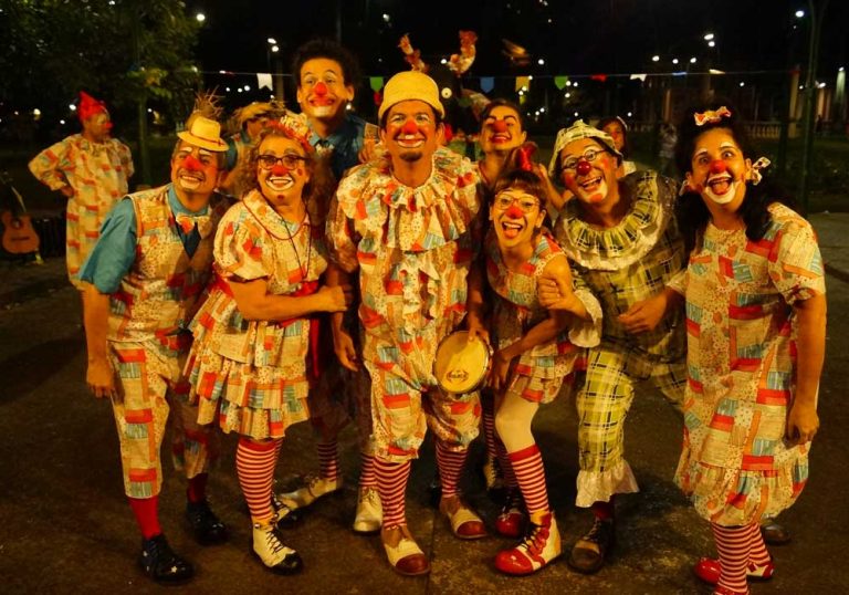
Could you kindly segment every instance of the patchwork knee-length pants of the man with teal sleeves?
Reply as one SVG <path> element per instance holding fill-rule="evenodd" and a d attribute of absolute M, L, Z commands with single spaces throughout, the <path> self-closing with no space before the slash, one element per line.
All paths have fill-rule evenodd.
<path fill-rule="evenodd" d="M 142 344 L 111 344 L 117 376 L 112 399 L 120 441 L 124 491 L 130 498 L 157 495 L 163 484 L 159 449 L 169 411 L 174 466 L 187 478 L 208 470 L 218 456 L 219 436 L 210 426 L 198 426 L 198 409 L 187 403 L 189 385 L 180 375 L 181 358 L 166 361 Z M 176 379 L 175 379 L 176 378 Z"/>

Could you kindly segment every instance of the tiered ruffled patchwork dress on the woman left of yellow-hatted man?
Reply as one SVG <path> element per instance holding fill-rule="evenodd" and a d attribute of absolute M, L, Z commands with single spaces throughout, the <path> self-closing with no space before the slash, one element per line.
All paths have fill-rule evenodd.
<path fill-rule="evenodd" d="M 308 215 L 285 221 L 252 190 L 221 221 L 214 258 L 219 280 L 192 322 L 187 365 L 198 422 L 218 421 L 256 440 L 282 438 L 308 417 L 311 317 L 248 321 L 229 283 L 264 279 L 276 295 L 314 293 L 327 268 L 322 230 Z"/>

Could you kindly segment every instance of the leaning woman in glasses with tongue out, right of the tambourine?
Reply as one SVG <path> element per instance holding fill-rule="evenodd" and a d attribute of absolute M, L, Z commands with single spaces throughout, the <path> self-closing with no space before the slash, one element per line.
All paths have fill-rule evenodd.
<path fill-rule="evenodd" d="M 560 555 L 560 535 L 531 424 L 539 405 L 557 396 L 579 346 L 598 343 L 600 328 L 591 319 L 601 315 L 588 292 L 580 298 L 568 292 L 552 311 L 537 299 L 542 274 L 569 280 L 572 273 L 566 255 L 543 227 L 548 191 L 528 148 L 513 152 L 512 167 L 495 182 L 492 225 L 484 242 L 486 276 L 495 295 L 491 324 L 495 354 L 489 385 L 495 393 L 495 427 L 504 445 L 501 466 L 513 494 L 496 529 L 504 535 L 521 535 L 525 524 L 522 500 L 530 518 L 522 542 L 495 557 L 500 571 L 514 575 L 536 572 Z M 516 498 L 518 491 L 521 498 Z"/>

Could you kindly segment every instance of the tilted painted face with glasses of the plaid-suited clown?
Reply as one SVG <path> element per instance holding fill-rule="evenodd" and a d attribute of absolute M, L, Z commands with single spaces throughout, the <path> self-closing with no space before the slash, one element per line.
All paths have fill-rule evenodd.
<path fill-rule="evenodd" d="M 604 202 L 617 188 L 616 168 L 619 164 L 593 138 L 573 140 L 560 150 L 560 181 L 577 198 L 588 205 Z"/>

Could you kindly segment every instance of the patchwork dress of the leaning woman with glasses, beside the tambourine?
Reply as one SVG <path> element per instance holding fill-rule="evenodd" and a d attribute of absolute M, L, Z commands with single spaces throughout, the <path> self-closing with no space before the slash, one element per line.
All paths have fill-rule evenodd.
<path fill-rule="evenodd" d="M 520 270 L 504 264 L 499 240 L 491 229 L 484 242 L 486 280 L 495 294 L 491 337 L 493 345 L 503 349 L 520 341 L 527 332 L 548 317 L 548 310 L 539 304 L 537 281 L 545 267 L 555 258 L 565 258 L 554 238 L 543 231 L 534 253 Z M 572 382 L 575 362 L 581 347 L 598 345 L 601 331 L 601 306 L 586 290 L 579 299 L 593 316 L 588 323 L 574 324 L 557 337 L 523 353 L 512 368 L 507 392 L 516 393 L 533 403 L 551 403 L 564 380 Z"/>

